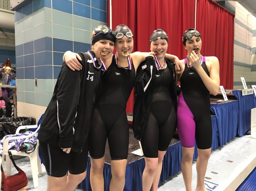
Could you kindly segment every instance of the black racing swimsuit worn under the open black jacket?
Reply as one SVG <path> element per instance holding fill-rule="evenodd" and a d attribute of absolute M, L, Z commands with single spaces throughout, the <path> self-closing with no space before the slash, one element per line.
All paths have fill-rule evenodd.
<path fill-rule="evenodd" d="M 156 71 L 153 80 L 149 121 L 140 141 L 144 156 L 148 158 L 157 158 L 158 151 L 166 151 L 173 137 L 176 111 L 170 96 L 172 78 L 169 68 L 165 68 Z"/>

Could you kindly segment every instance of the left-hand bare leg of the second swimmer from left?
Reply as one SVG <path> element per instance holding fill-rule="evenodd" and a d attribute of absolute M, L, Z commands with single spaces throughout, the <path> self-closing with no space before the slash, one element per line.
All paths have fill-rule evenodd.
<path fill-rule="evenodd" d="M 90 183 L 93 191 L 104 190 L 104 178 L 103 178 L 103 167 L 105 159 L 92 159 L 91 158 L 91 171 L 90 171 Z"/>

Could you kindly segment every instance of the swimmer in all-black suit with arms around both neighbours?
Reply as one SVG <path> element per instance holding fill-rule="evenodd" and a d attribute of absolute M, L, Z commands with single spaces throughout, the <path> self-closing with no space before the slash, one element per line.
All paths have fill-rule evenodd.
<path fill-rule="evenodd" d="M 102 74 L 103 88 L 99 91 L 99 99 L 95 101 L 95 112 L 90 131 L 91 171 L 90 182 L 93 190 L 103 190 L 103 167 L 106 140 L 108 139 L 111 155 L 110 190 L 123 191 L 125 169 L 128 156 L 129 128 L 126 115 L 126 103 L 135 84 L 136 70 L 149 52 L 134 52 L 133 34 L 130 28 L 120 24 L 115 29 L 116 55 L 111 64 L 106 64 Z M 154 53 L 153 53 L 154 54 Z M 177 63 L 178 57 L 168 55 Z M 66 52 L 63 60 L 73 69 L 81 69 L 79 56 Z"/>

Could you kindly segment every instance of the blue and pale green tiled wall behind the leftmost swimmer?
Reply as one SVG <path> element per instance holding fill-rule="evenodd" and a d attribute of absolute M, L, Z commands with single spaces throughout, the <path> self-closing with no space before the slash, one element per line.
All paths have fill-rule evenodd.
<path fill-rule="evenodd" d="M 45 111 L 63 53 L 91 48 L 91 31 L 106 24 L 106 4 L 106 0 L 33 0 L 15 12 L 19 116 L 38 119 Z"/>

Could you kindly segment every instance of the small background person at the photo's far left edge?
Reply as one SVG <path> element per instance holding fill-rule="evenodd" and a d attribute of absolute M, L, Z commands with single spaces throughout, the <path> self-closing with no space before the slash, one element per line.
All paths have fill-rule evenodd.
<path fill-rule="evenodd" d="M 5 73 L 3 73 L 3 70 Z M 2 80 L 2 85 L 10 85 L 11 80 L 16 80 L 16 70 L 4 66 L 0 69 L 0 78 Z M 13 99 L 13 89 L 12 88 L 1 88 L 2 96 L 10 100 Z"/>

